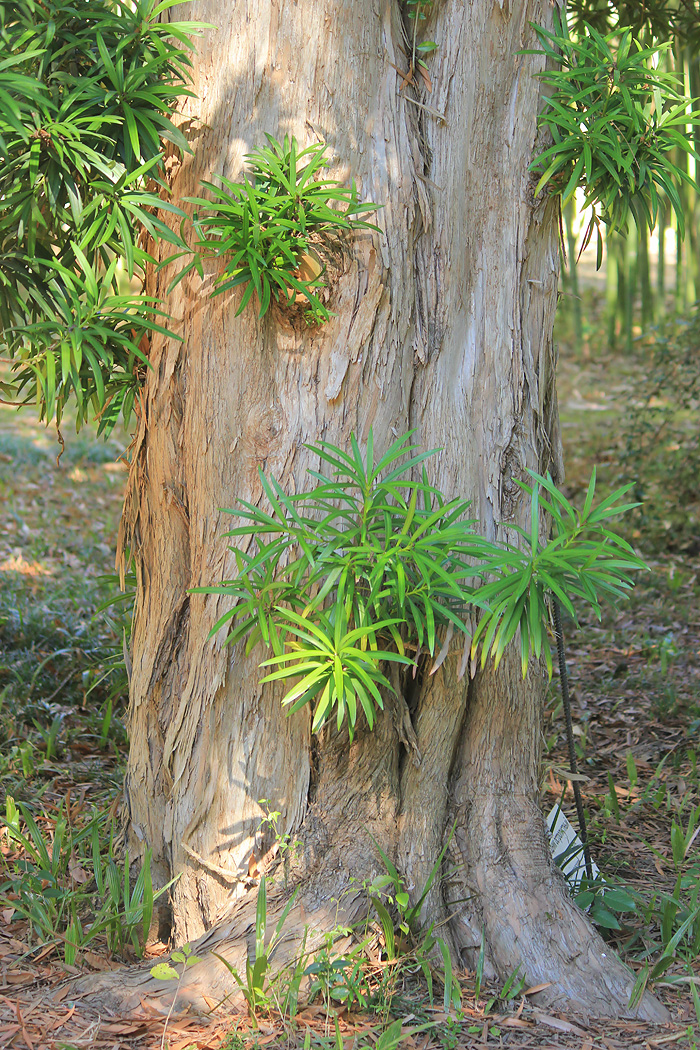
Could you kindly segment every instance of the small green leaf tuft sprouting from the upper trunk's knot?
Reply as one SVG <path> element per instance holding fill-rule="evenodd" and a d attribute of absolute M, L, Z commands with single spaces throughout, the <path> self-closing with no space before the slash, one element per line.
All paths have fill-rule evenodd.
<path fill-rule="evenodd" d="M 313 143 L 299 149 L 296 139 L 283 143 L 266 135 L 268 145 L 249 153 L 243 181 L 217 175 L 217 183 L 203 182 L 209 197 L 190 197 L 196 206 L 193 226 L 195 250 L 169 291 L 195 269 L 204 275 L 203 257 L 224 260 L 213 295 L 245 286 L 236 314 L 257 295 L 259 316 L 273 299 L 282 303 L 305 300 L 311 319 L 322 322 L 330 312 L 318 296 L 325 287 L 322 245 L 345 230 L 378 227 L 359 216 L 377 210 L 362 204 L 355 183 L 342 186 L 322 178 L 327 146 Z M 204 209 L 199 211 L 198 209 Z"/>

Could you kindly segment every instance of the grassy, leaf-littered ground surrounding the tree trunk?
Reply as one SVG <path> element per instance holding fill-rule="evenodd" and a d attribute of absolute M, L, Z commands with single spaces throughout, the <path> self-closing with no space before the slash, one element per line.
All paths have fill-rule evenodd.
<path fill-rule="evenodd" d="M 587 317 L 594 319 L 595 310 Z M 589 335 L 582 354 L 567 353 L 565 318 L 559 397 L 569 496 L 582 489 L 593 461 L 600 465 L 603 487 L 616 483 L 620 419 L 629 413 L 634 383 L 645 369 L 643 348 L 633 358 L 613 358 L 596 345 L 594 332 Z M 516 983 L 508 989 L 482 982 L 476 989 L 472 972 L 459 974 L 463 1014 L 458 1020 L 445 1014 L 439 982 L 431 1006 L 410 958 L 399 964 L 382 960 L 379 941 L 370 948 L 374 961 L 364 978 L 365 990 L 374 995 L 370 1010 L 326 1008 L 319 996 L 284 1022 L 262 1009 L 256 1029 L 246 1016 L 215 1009 L 208 1023 L 171 1018 L 164 1035 L 163 1016 L 100 1017 L 89 999 L 76 1000 L 66 975 L 120 966 L 133 960 L 136 949 L 128 930 L 122 932 L 124 924 L 107 921 L 92 940 L 84 929 L 80 934 L 77 924 L 69 927 L 73 911 L 83 926 L 94 921 L 89 909 L 94 908 L 99 878 L 107 887 L 103 899 L 109 897 L 110 841 L 121 880 L 124 873 L 119 823 L 112 817 L 119 811 L 126 747 L 124 671 L 119 666 L 125 620 L 120 606 L 106 613 L 96 610 L 114 593 L 113 581 L 100 578 L 112 571 L 126 467 L 115 460 L 123 435 L 105 446 L 89 435 L 76 438 L 66 425 L 64 437 L 66 452 L 57 464 L 55 432 L 45 430 L 29 413 L 0 410 L 5 522 L 0 537 L 0 804 L 6 796 L 30 804 L 37 824 L 28 847 L 40 853 L 40 841 L 48 845 L 31 883 L 30 873 L 23 873 L 27 850 L 6 830 L 0 833 L 0 1047 L 242 1050 L 331 1048 L 339 1047 L 340 1040 L 348 1050 L 353 1045 L 389 1050 L 398 1031 L 380 1033 L 390 1021 L 391 995 L 390 1015 L 403 1024 L 400 1045 L 420 1050 L 696 1045 L 700 583 L 691 542 L 693 530 L 698 531 L 693 513 L 686 516 L 691 540 L 683 542 L 671 534 L 664 541 L 663 511 L 653 544 L 644 519 L 631 520 L 628 538 L 645 552 L 651 571 L 632 601 L 608 610 L 602 623 L 587 621 L 579 631 L 565 625 L 592 853 L 608 881 L 624 887 L 631 908 L 602 918 L 619 921 L 620 928 L 610 930 L 611 947 L 638 972 L 649 964 L 650 982 L 669 1007 L 672 1023 L 592 1024 L 546 1015 L 529 1002 L 527 989 L 514 994 Z M 664 479 L 659 480 L 662 485 Z M 549 811 L 564 796 L 573 821 L 556 678 L 549 693 L 545 750 L 543 806 Z M 274 810 L 274 800 L 270 803 Z M 6 817 L 12 823 L 12 803 Z M 97 856 L 90 831 L 94 820 Z M 63 845 L 52 849 L 61 828 Z M 131 907 L 137 946 L 133 887 L 125 900 L 118 880 L 114 900 L 105 915 L 128 918 Z M 44 911 L 35 910 L 29 922 L 26 916 L 42 901 Z M 81 936 L 75 951 L 71 944 Z M 154 961 L 165 950 L 154 928 L 146 950 Z M 659 962 L 664 957 L 666 968 Z"/>

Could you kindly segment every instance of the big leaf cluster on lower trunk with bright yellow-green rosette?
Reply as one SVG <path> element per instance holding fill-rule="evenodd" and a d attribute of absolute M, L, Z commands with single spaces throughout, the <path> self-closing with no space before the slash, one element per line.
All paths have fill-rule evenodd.
<path fill-rule="evenodd" d="M 365 458 L 354 436 L 352 454 L 310 445 L 332 475 L 311 470 L 316 488 L 295 496 L 261 475 L 270 511 L 241 501 L 230 512 L 246 524 L 227 533 L 254 537 L 257 550 L 231 548 L 238 576 L 205 588 L 236 601 L 215 631 L 230 625 L 230 643 L 248 635 L 248 651 L 258 640 L 272 647 L 264 681 L 298 679 L 282 704 L 297 711 L 316 700 L 314 731 L 333 709 L 351 733 L 359 710 L 372 727 L 390 689 L 382 667 L 413 664 L 421 648 L 434 653 L 442 626 L 466 630 L 476 553 L 468 504 L 446 502 L 425 472 L 410 480 L 432 453 L 412 455 L 409 440 L 377 461 L 372 432 Z"/>

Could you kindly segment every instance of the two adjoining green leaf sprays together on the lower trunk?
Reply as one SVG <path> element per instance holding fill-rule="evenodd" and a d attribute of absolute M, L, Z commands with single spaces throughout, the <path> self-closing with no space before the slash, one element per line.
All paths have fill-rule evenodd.
<path fill-rule="evenodd" d="M 549 596 L 572 615 L 576 598 L 599 614 L 600 600 L 624 596 L 643 564 L 607 527 L 633 505 L 619 502 L 627 488 L 594 506 L 595 475 L 577 511 L 551 479 L 530 471 L 533 484 L 522 487 L 531 528 L 509 526 L 521 534 L 516 547 L 479 536 L 469 504 L 430 484 L 425 463 L 436 452 L 418 452 L 410 435 L 378 461 L 372 430 L 364 457 L 354 436 L 351 453 L 307 447 L 330 474 L 310 470 L 315 487 L 294 496 L 261 474 L 269 509 L 241 501 L 227 511 L 245 522 L 227 536 L 253 538 L 254 548 L 232 547 L 236 578 L 197 590 L 234 600 L 212 633 L 227 627 L 229 643 L 247 638 L 247 652 L 259 642 L 272 649 L 262 680 L 289 686 L 282 704 L 291 711 L 313 704 L 314 731 L 334 710 L 351 736 L 360 710 L 372 728 L 382 691 L 394 688 L 387 665 L 415 673 L 425 652 L 437 670 L 455 630 L 465 635 L 460 675 L 480 651 L 482 665 L 489 655 L 497 665 L 518 631 L 523 674 L 530 653 L 544 655 L 551 673 Z M 548 544 L 539 542 L 540 511 L 552 522 Z"/>

